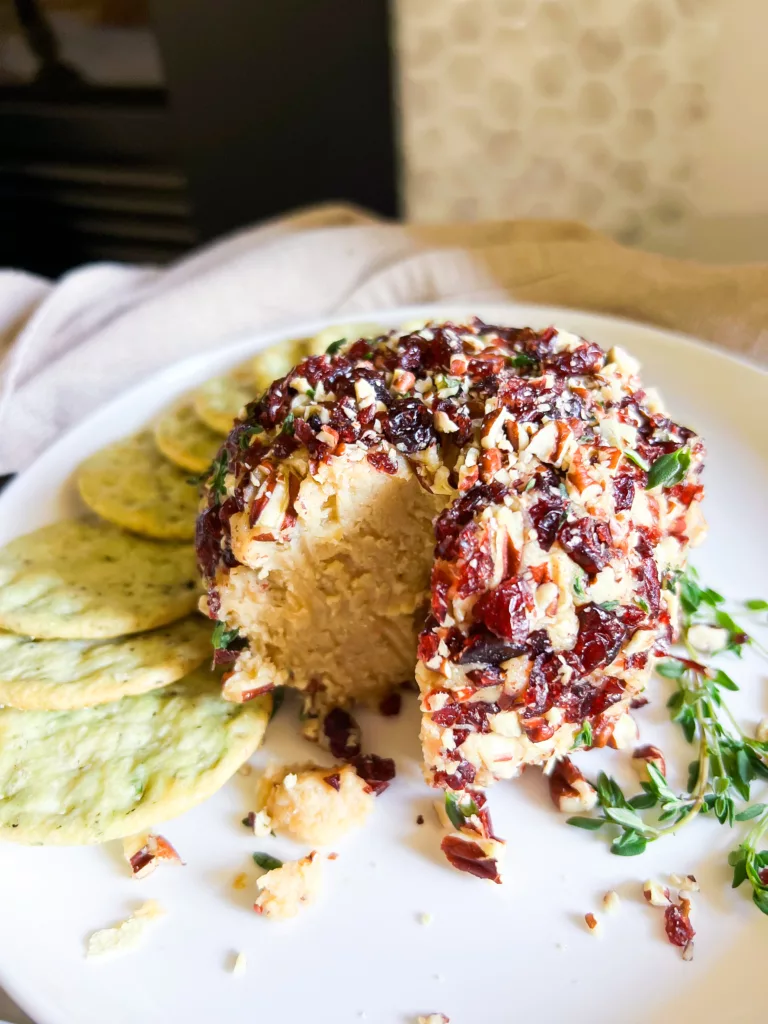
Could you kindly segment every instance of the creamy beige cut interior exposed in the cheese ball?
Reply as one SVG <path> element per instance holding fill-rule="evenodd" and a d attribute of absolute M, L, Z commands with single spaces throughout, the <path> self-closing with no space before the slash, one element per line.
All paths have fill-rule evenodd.
<path fill-rule="evenodd" d="M 428 599 L 432 520 L 446 499 L 424 490 L 404 460 L 396 475 L 360 453 L 301 478 L 297 523 L 287 541 L 253 540 L 246 515 L 232 521 L 243 564 L 219 585 L 220 616 L 249 638 L 225 695 L 290 684 L 317 709 L 376 702 L 413 680 Z"/>

